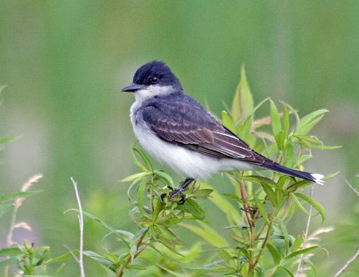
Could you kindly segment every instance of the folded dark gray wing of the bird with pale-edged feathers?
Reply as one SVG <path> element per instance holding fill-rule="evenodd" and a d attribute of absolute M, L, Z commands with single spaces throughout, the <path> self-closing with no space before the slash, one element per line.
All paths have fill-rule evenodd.
<path fill-rule="evenodd" d="M 217 158 L 264 164 L 265 157 L 227 130 L 193 99 L 156 100 L 141 109 L 160 139 Z"/>

